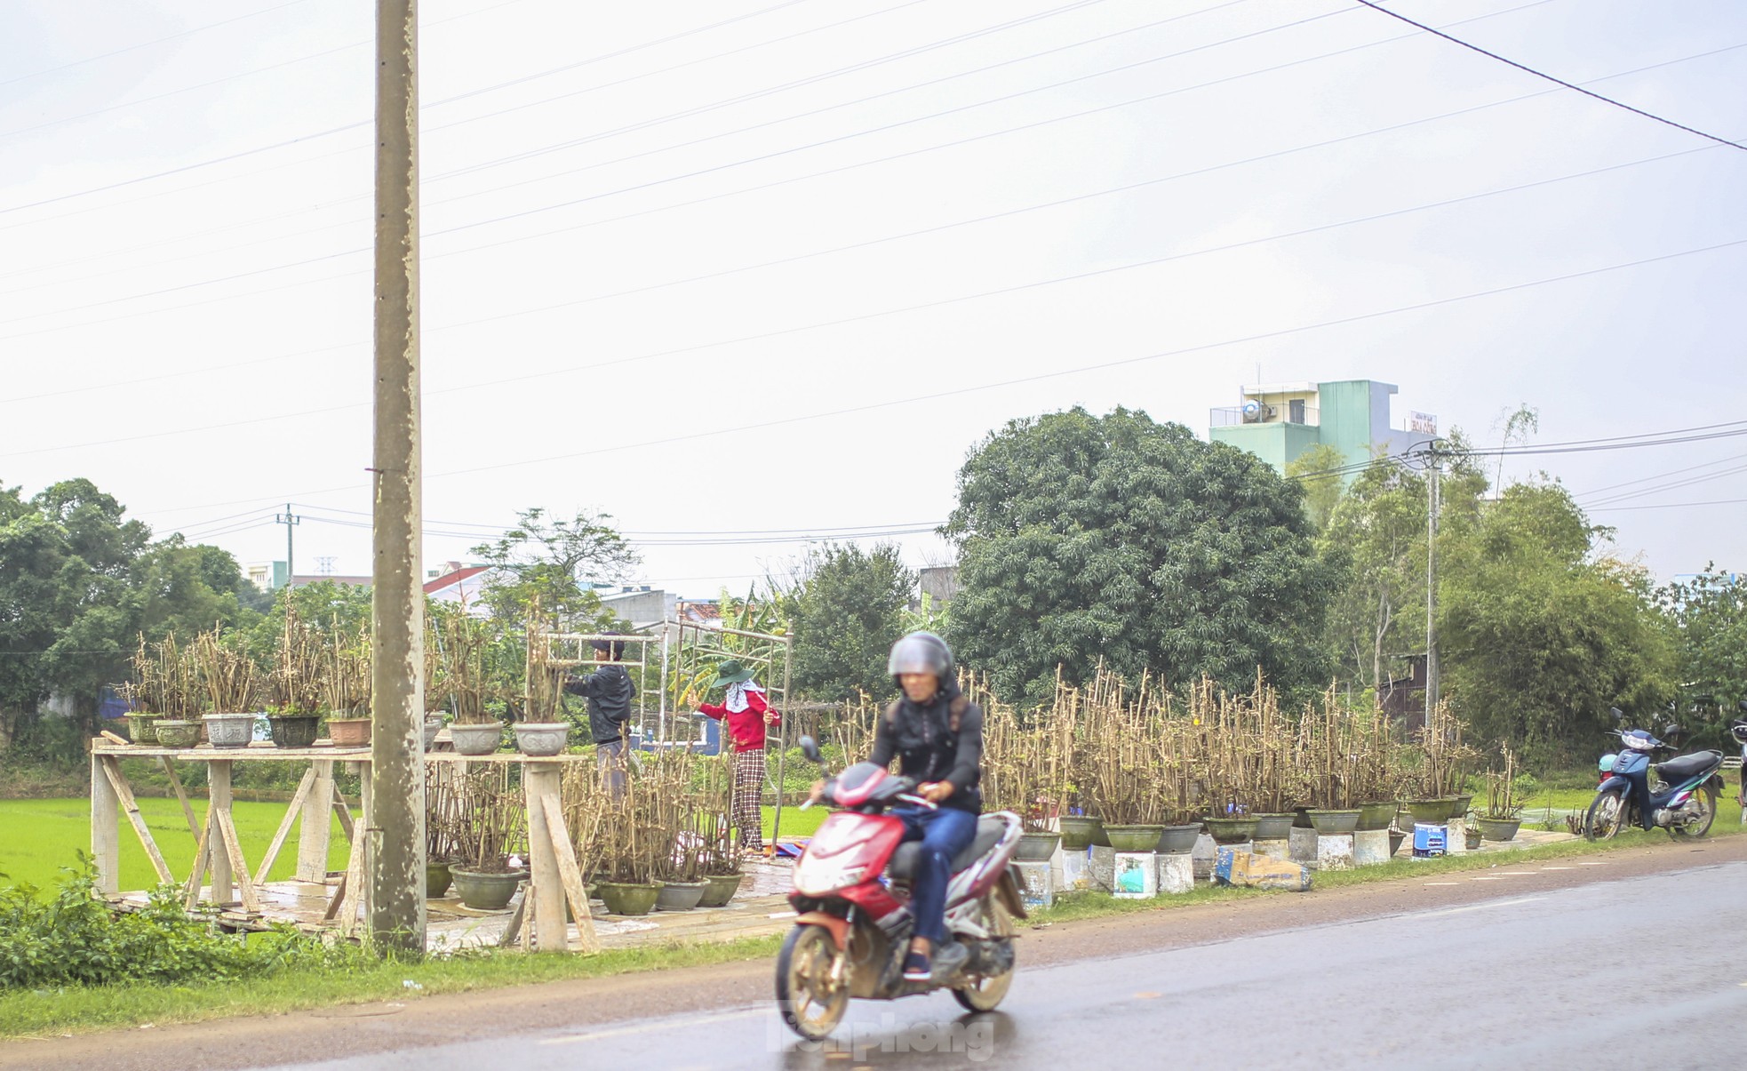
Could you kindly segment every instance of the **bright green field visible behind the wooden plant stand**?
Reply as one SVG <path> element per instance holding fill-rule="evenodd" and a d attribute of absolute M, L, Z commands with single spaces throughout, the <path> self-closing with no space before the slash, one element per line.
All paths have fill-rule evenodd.
<path fill-rule="evenodd" d="M 194 814 L 206 819 L 206 800 L 190 800 Z M 260 863 L 267 844 L 273 840 L 280 819 L 285 818 L 287 804 L 248 804 L 231 805 L 236 816 L 236 832 L 243 842 L 243 854 L 250 867 Z M 152 830 L 157 851 L 169 863 L 169 872 L 178 879 L 187 877 L 194 867 L 194 835 L 182 816 L 182 804 L 176 800 L 143 798 L 140 814 Z M 33 884 L 49 888 L 61 879 L 61 868 L 77 861 L 79 851 L 91 851 L 91 800 L 0 800 L 0 884 Z M 297 830 L 280 858 L 273 865 L 269 881 L 283 881 L 297 868 Z M 346 868 L 346 839 L 339 832 L 339 819 L 334 819 L 328 839 L 328 868 Z M 121 816 L 121 888 L 148 889 L 157 884 L 145 847 L 126 816 Z"/>

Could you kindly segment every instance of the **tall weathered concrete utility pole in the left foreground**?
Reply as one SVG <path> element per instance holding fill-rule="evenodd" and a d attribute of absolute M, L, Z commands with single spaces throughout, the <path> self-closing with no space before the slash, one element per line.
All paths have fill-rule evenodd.
<path fill-rule="evenodd" d="M 376 5 L 376 507 L 370 531 L 370 933 L 425 950 L 419 584 L 418 0 Z"/>

